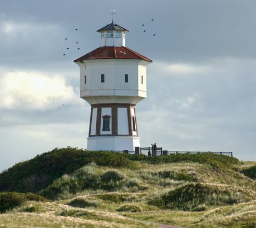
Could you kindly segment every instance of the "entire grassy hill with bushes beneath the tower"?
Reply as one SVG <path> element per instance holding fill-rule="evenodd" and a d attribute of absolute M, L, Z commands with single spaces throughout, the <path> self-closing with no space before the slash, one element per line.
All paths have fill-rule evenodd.
<path fill-rule="evenodd" d="M 0 174 L 0 221 L 6 227 L 256 227 L 255 166 L 217 154 L 56 148 Z"/>

